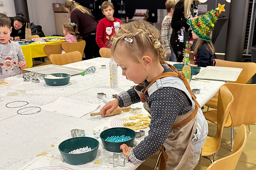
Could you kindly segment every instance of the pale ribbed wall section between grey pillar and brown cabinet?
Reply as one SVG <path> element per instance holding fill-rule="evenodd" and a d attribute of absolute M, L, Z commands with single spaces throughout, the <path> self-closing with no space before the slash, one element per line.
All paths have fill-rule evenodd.
<path fill-rule="evenodd" d="M 65 3 L 66 0 L 27 0 L 30 23 L 41 25 L 46 36 L 56 34 L 52 3 Z"/>

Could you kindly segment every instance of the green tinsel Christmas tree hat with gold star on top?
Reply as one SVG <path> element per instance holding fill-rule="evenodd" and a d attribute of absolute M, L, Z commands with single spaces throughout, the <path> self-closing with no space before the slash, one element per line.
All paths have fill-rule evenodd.
<path fill-rule="evenodd" d="M 224 5 L 218 4 L 218 8 L 212 9 L 206 12 L 205 15 L 199 16 L 196 19 L 188 19 L 187 23 L 190 25 L 192 31 L 200 38 L 205 41 L 211 41 L 210 34 L 217 22 L 218 15 L 221 11 L 225 11 Z"/>

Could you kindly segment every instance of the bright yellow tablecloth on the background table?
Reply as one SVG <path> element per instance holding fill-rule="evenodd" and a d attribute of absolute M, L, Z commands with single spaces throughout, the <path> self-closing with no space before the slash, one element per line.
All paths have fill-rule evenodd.
<path fill-rule="evenodd" d="M 58 38 L 58 37 L 40 37 L 40 38 Z M 65 42 L 65 40 L 59 40 L 55 42 L 47 42 L 47 43 L 31 43 L 28 45 L 20 45 L 23 55 L 25 56 L 25 60 L 27 62 L 26 68 L 31 68 L 33 66 L 32 58 L 36 57 L 44 57 L 46 53 L 43 51 L 43 47 L 46 44 L 59 44 L 61 42 Z"/>

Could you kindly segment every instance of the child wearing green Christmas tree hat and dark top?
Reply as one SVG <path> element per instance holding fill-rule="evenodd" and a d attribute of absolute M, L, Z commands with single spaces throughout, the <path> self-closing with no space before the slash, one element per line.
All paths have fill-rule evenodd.
<path fill-rule="evenodd" d="M 201 15 L 196 19 L 187 20 L 187 24 L 189 24 L 192 29 L 193 38 L 197 39 L 193 54 L 194 64 L 189 64 L 190 66 L 206 67 L 213 65 L 215 50 L 211 41 L 211 34 L 218 20 L 218 15 L 220 15 L 222 11 L 225 11 L 224 6 L 225 4 L 220 5 L 219 3 L 215 10 L 212 9 L 206 12 L 205 15 Z"/>

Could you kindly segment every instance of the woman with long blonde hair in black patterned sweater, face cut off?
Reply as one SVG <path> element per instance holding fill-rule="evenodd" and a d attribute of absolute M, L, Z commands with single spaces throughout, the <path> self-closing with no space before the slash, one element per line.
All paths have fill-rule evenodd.
<path fill-rule="evenodd" d="M 197 0 L 180 0 L 174 7 L 172 16 L 172 36 L 171 46 L 177 57 L 177 62 L 182 62 L 182 51 L 185 48 L 185 42 L 189 41 L 192 34 L 189 32 L 187 19 L 198 15 Z"/>

